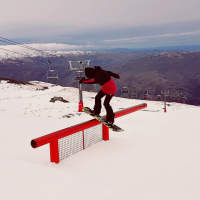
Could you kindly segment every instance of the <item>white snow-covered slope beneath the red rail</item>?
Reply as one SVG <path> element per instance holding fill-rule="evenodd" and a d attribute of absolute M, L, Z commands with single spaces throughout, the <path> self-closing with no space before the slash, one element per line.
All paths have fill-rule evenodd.
<path fill-rule="evenodd" d="M 116 119 L 124 132 L 54 164 L 49 145 L 30 141 L 91 117 L 77 112 L 76 88 L 31 83 L 0 82 L 1 200 L 200 199 L 200 107 L 171 103 L 164 113 L 162 102 L 114 97 L 114 111 L 147 108 Z M 83 92 L 84 106 L 94 96 Z"/>

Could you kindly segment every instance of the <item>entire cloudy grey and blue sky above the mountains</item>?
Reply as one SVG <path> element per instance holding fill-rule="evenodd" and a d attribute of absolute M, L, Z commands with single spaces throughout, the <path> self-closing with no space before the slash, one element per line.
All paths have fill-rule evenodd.
<path fill-rule="evenodd" d="M 196 45 L 199 7 L 199 0 L 1 0 L 0 36 L 42 50 Z"/>

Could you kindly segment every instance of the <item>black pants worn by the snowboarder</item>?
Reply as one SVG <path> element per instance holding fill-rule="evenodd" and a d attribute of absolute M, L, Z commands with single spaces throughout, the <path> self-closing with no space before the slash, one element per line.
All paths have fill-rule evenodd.
<path fill-rule="evenodd" d="M 104 96 L 106 96 L 104 100 L 104 104 L 103 104 L 105 106 L 106 113 L 107 113 L 106 119 L 108 121 L 113 121 L 115 114 L 113 113 L 113 109 L 110 106 L 110 100 L 112 99 L 113 95 L 106 94 L 100 90 L 99 93 L 95 97 L 94 112 L 98 115 L 101 113 L 101 99 Z"/>

